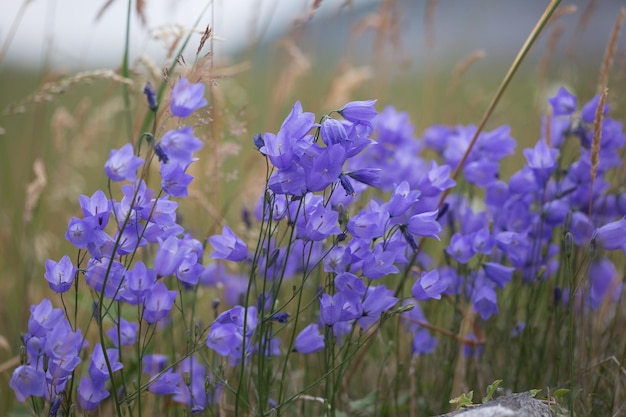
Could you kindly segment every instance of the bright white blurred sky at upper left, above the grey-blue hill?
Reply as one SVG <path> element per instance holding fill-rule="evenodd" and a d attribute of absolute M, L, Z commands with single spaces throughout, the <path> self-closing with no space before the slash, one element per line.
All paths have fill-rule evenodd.
<path fill-rule="evenodd" d="M 357 0 L 353 8 L 375 0 Z M 344 0 L 324 0 L 316 19 L 336 11 Z M 48 62 L 56 69 L 110 67 L 121 62 L 126 24 L 126 0 L 113 0 L 100 18 L 107 0 L 0 0 L 0 45 L 4 48 L 11 26 L 22 18 L 7 50 L 5 64 L 39 66 Z M 133 0 L 133 7 L 136 3 Z M 24 4 L 26 6 L 24 7 Z M 163 25 L 208 24 L 223 39 L 216 54 L 240 50 L 260 35 L 271 38 L 285 31 L 294 18 L 306 14 L 310 0 L 145 0 L 147 27 L 136 13 L 131 22 L 131 56 L 158 58 L 163 46 L 151 33 Z M 199 36 L 190 50 L 195 51 Z"/>

